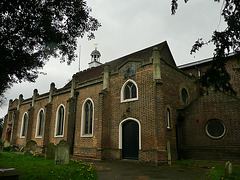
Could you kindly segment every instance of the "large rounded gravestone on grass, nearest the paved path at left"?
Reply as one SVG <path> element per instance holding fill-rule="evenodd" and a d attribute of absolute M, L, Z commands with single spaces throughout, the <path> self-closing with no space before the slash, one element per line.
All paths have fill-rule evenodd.
<path fill-rule="evenodd" d="M 55 164 L 69 164 L 69 145 L 61 140 L 55 150 Z"/>

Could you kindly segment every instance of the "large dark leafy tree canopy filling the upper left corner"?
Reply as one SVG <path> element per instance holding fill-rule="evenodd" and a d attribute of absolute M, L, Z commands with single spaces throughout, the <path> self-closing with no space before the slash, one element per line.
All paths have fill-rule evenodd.
<path fill-rule="evenodd" d="M 100 27 L 84 0 L 0 1 L 0 95 L 13 83 L 34 82 L 50 56 L 70 64 L 77 38 Z"/>

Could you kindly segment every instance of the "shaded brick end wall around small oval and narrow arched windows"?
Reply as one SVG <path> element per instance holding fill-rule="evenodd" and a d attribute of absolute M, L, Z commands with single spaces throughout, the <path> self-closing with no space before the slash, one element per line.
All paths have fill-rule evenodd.
<path fill-rule="evenodd" d="M 177 137 L 176 137 L 176 123 L 178 118 L 178 109 L 182 109 L 190 104 L 198 96 L 198 86 L 195 83 L 196 79 L 191 78 L 185 73 L 177 70 L 176 68 L 168 65 L 164 61 L 161 63 L 162 67 L 162 96 L 161 105 L 157 111 L 159 113 L 158 121 L 158 147 L 160 150 L 166 150 L 166 142 L 170 141 L 172 159 L 177 159 Z M 188 103 L 182 101 L 181 91 L 185 88 L 188 92 Z M 170 123 L 171 129 L 167 129 L 167 108 L 170 110 Z M 160 155 L 160 158 L 162 156 Z M 163 156 L 164 157 L 164 156 Z M 159 159 L 162 161 L 162 159 Z"/>

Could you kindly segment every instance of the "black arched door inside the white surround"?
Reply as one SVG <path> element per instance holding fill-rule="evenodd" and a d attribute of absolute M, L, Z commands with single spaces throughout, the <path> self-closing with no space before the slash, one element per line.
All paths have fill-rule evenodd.
<path fill-rule="evenodd" d="M 138 159 L 139 125 L 136 121 L 128 120 L 122 125 L 122 157 Z"/>

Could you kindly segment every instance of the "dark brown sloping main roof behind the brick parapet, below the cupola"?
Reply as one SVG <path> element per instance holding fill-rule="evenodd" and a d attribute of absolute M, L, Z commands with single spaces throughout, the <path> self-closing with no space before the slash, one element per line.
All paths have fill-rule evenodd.
<path fill-rule="evenodd" d="M 159 49 L 161 58 L 163 60 L 165 60 L 167 63 L 173 66 L 176 66 L 176 63 L 173 59 L 173 56 L 168 47 L 168 44 L 166 41 L 164 41 L 162 43 L 156 44 L 154 46 L 142 49 L 140 51 L 131 53 L 129 55 L 126 55 L 116 60 L 108 62 L 110 72 L 116 71 L 122 64 L 124 64 L 128 60 L 136 59 L 136 60 L 141 60 L 143 62 L 149 62 L 150 58 L 152 57 L 152 51 L 154 47 L 157 47 Z M 74 76 L 76 77 L 77 82 L 81 83 L 81 82 L 101 76 L 103 71 L 104 71 L 104 64 L 97 67 L 89 68 L 84 71 L 80 71 L 76 73 Z M 70 87 L 70 86 L 71 86 L 71 81 L 68 84 L 66 84 L 64 87 Z"/>

